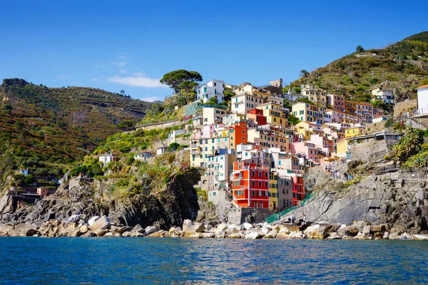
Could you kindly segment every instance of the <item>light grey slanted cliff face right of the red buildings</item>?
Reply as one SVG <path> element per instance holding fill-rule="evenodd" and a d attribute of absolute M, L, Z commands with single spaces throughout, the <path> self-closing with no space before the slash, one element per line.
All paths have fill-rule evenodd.
<path fill-rule="evenodd" d="M 308 182 L 316 181 L 315 195 L 303 207 L 290 212 L 314 222 L 352 224 L 353 221 L 388 223 L 391 227 L 417 234 L 428 231 L 428 187 L 417 173 L 403 172 L 385 162 L 370 147 L 360 165 L 341 165 L 338 170 L 354 171 L 353 182 L 333 180 L 321 167 L 312 170 Z M 377 159 L 376 159 L 377 158 Z M 358 173 L 362 172 L 362 173 Z M 361 178 L 362 177 L 362 178 Z M 422 176 L 421 176 L 422 177 Z"/>

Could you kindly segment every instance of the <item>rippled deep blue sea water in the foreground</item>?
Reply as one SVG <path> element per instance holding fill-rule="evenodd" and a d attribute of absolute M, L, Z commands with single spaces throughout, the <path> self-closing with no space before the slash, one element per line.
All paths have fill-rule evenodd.
<path fill-rule="evenodd" d="M 428 242 L 0 238 L 0 284 L 240 283 L 428 283 Z"/>

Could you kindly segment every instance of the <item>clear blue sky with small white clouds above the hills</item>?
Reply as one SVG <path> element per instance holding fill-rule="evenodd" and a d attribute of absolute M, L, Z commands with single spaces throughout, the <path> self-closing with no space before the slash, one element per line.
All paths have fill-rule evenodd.
<path fill-rule="evenodd" d="M 294 81 L 428 30 L 425 1 L 5 1 L 0 78 L 163 100 L 176 69 L 209 81 Z"/>

